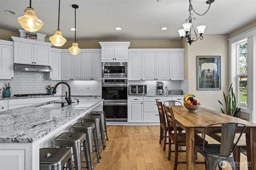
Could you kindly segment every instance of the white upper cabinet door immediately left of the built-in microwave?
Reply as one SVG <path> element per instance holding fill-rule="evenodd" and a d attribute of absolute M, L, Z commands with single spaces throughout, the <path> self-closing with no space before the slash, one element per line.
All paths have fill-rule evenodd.
<path fill-rule="evenodd" d="M 101 53 L 92 53 L 92 80 L 101 80 Z"/>

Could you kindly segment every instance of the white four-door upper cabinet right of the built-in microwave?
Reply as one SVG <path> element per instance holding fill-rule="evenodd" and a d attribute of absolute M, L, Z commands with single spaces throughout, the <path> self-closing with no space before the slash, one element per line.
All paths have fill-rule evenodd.
<path fill-rule="evenodd" d="M 184 80 L 184 49 L 129 49 L 129 80 Z"/>

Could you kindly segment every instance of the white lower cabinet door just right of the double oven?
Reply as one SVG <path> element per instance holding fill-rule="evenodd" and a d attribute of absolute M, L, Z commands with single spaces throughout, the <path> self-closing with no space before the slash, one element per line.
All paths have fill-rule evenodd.
<path fill-rule="evenodd" d="M 143 122 L 143 103 L 129 102 L 128 122 Z"/>

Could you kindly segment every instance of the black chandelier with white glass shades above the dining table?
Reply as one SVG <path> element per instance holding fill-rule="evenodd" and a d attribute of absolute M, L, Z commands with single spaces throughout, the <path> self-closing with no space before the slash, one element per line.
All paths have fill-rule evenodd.
<path fill-rule="evenodd" d="M 208 12 L 208 10 L 210 9 L 211 4 L 214 2 L 214 0 L 207 0 L 206 4 L 209 4 L 208 9 L 206 10 L 206 12 Z M 186 21 L 188 21 L 188 23 L 184 23 L 182 24 L 182 26 L 184 27 L 184 29 L 179 29 L 178 32 L 180 33 L 180 38 L 181 38 L 181 42 L 186 42 L 189 43 L 191 45 L 192 42 L 198 40 L 198 39 L 203 39 L 204 37 L 202 36 L 204 33 L 204 29 L 205 29 L 205 25 L 200 25 L 197 26 L 196 28 L 198 29 L 198 34 L 196 34 L 196 31 L 192 25 L 192 19 L 196 20 L 196 18 L 193 18 L 193 14 L 191 13 L 191 10 L 194 11 L 195 14 L 199 15 L 199 16 L 203 16 L 204 14 L 206 14 L 206 12 L 204 12 L 204 14 L 198 14 L 197 12 L 195 12 L 191 0 L 189 0 L 189 8 L 188 8 L 188 12 L 189 12 L 189 16 L 188 19 L 186 19 Z M 191 29 L 192 27 L 192 29 Z M 196 34 L 196 37 L 191 37 L 191 31 L 194 31 L 194 33 Z"/>

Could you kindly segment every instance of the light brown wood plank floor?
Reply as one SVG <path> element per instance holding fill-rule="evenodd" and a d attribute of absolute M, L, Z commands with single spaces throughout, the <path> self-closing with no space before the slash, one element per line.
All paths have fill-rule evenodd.
<path fill-rule="evenodd" d="M 94 159 L 94 170 L 172 170 L 174 153 L 167 160 L 168 146 L 163 151 L 159 144 L 159 126 L 108 126 L 108 141 L 102 150 L 100 163 Z M 207 139 L 209 142 L 211 139 Z M 212 140 L 214 141 L 214 140 Z M 181 147 L 185 150 L 185 147 Z M 174 149 L 173 149 L 174 150 Z M 198 154 L 198 161 L 203 161 Z M 186 161 L 186 152 L 179 152 L 178 161 Z M 247 170 L 247 158 L 241 154 L 240 170 Z M 195 170 L 205 170 L 204 164 L 196 164 Z M 231 170 L 228 165 L 223 170 Z M 178 164 L 178 170 L 186 170 L 186 164 Z M 218 170 L 218 168 L 217 168 Z"/>

